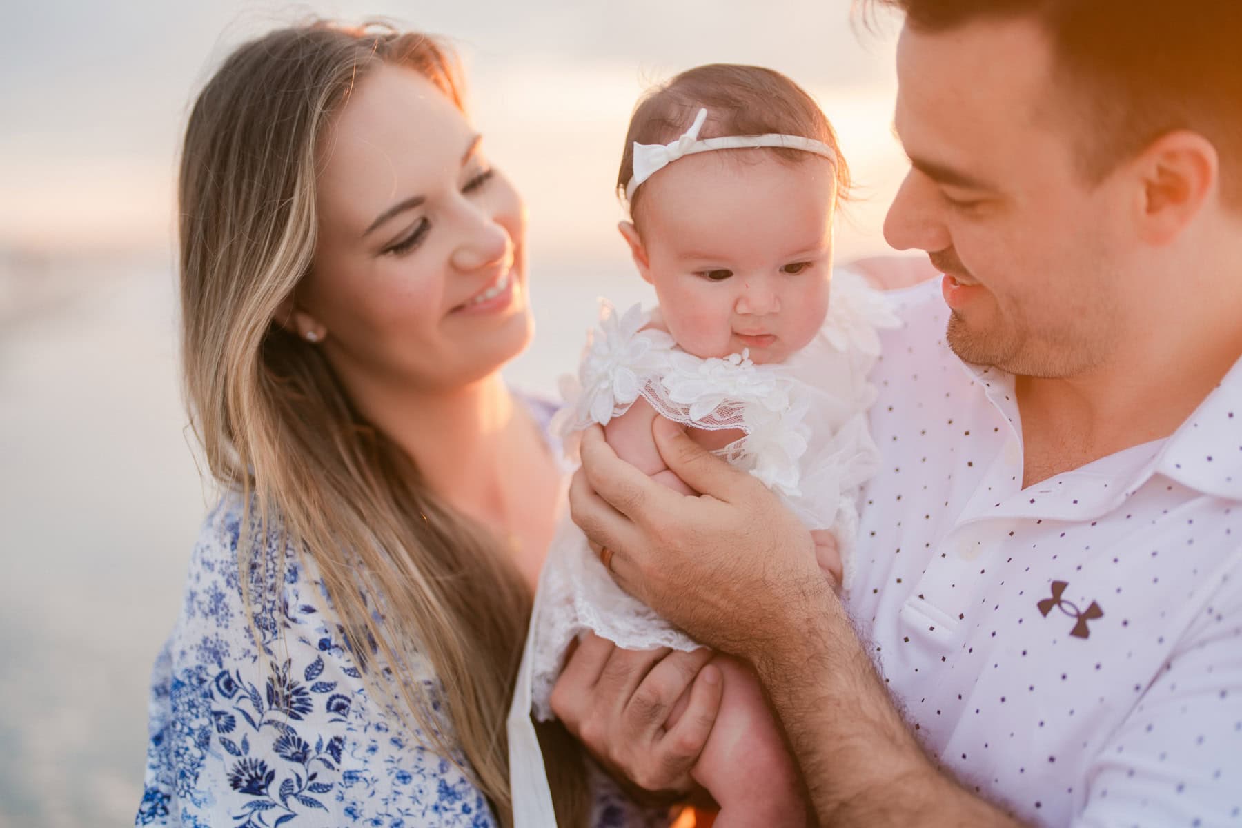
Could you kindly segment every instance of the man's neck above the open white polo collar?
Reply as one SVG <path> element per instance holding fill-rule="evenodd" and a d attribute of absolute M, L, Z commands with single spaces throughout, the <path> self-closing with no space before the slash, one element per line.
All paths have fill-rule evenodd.
<path fill-rule="evenodd" d="M 1242 325 L 1170 325 L 1105 369 L 1016 377 L 1023 487 L 1172 434 L 1242 358 Z"/>

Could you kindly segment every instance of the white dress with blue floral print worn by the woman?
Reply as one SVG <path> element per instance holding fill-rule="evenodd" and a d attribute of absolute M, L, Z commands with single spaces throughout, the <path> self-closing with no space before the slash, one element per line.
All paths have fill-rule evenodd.
<path fill-rule="evenodd" d="M 544 418 L 544 422 L 546 420 Z M 155 660 L 150 741 L 138 826 L 235 828 L 491 828 L 487 799 L 453 761 L 425 747 L 364 685 L 312 561 L 277 533 L 247 528 L 262 556 L 250 567 L 256 647 L 242 603 L 242 503 L 207 515 L 185 601 Z M 283 559 L 283 560 L 282 560 Z M 279 566 L 283 564 L 283 566 Z M 276 583 L 283 571 L 283 582 Z M 421 677 L 435 699 L 430 665 Z M 451 724 L 445 721 L 445 732 Z M 597 772 L 592 826 L 667 826 L 627 803 Z"/>

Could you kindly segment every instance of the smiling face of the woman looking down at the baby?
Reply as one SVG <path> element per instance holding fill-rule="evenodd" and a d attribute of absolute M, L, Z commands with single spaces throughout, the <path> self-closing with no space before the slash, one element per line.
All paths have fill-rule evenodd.
<path fill-rule="evenodd" d="M 525 211 L 479 135 L 414 70 L 380 66 L 324 135 L 301 333 L 351 395 L 445 391 L 529 341 Z"/>

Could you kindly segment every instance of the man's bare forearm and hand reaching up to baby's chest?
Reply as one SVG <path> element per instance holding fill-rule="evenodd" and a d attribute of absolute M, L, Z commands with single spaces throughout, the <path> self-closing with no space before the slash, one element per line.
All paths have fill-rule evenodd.
<path fill-rule="evenodd" d="M 612 551 L 622 587 L 756 668 L 820 822 L 1015 824 L 923 754 L 820 572 L 806 528 L 676 427 L 657 421 L 655 438 L 668 467 L 703 495 L 652 483 L 595 430 L 584 436 L 570 490 L 574 520 Z"/>

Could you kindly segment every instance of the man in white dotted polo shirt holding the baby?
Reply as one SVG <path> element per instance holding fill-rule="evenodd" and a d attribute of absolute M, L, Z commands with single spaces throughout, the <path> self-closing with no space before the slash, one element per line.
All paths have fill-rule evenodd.
<path fill-rule="evenodd" d="M 886 235 L 945 278 L 897 294 L 873 375 L 848 616 L 776 499 L 658 421 L 703 497 L 589 433 L 575 520 L 754 665 L 822 824 L 1237 821 L 1242 4 L 882 5 L 913 168 Z M 642 731 L 631 775 L 676 785 L 703 683 L 697 730 L 660 725 L 702 657 L 635 658 L 580 648 L 560 713 L 606 760 Z"/>

